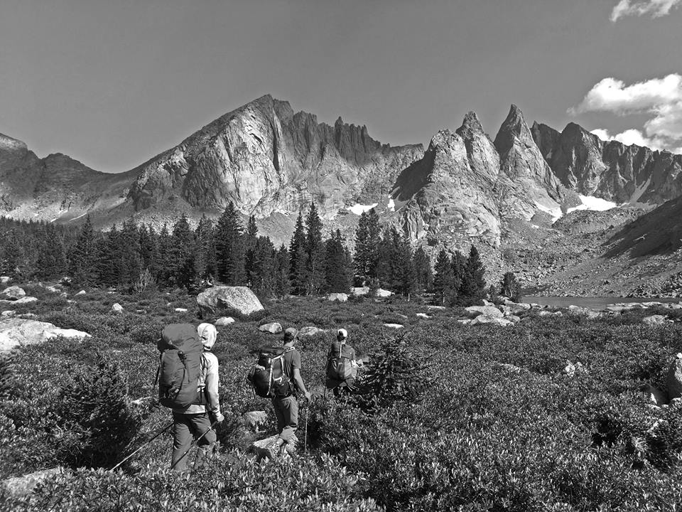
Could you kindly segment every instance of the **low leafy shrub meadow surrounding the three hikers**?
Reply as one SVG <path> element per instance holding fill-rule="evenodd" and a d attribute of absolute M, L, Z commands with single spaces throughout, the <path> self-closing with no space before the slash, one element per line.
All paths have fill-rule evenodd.
<path fill-rule="evenodd" d="M 153 395 L 161 327 L 197 321 L 195 297 L 94 291 L 75 301 L 43 294 L 16 309 L 92 338 L 0 361 L 0 478 L 67 468 L 30 496 L 0 496 L 12 510 L 671 511 L 682 503 L 682 409 L 639 392 L 645 383 L 664 388 L 682 351 L 678 324 L 644 326 L 638 311 L 594 320 L 529 311 L 501 329 L 462 326 L 458 307 L 418 300 L 273 300 L 264 314 L 219 328 L 220 457 L 178 476 L 168 470 L 169 433 L 107 469 L 170 422 L 144 398 Z M 114 302 L 123 313 L 112 314 Z M 256 348 L 278 341 L 257 330 L 269 321 L 329 331 L 298 343 L 314 395 L 302 412 L 305 449 L 259 464 L 244 453 L 240 418 L 266 410 L 274 430 L 271 405 L 246 380 Z M 335 400 L 323 393 L 323 373 L 340 326 L 371 364 L 365 393 Z M 566 375 L 567 361 L 582 369 Z"/>

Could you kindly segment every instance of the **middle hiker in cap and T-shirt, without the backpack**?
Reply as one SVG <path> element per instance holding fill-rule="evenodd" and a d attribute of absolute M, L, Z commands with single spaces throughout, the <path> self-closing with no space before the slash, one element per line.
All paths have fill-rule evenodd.
<path fill-rule="evenodd" d="M 283 396 L 275 395 L 272 397 L 272 406 L 277 417 L 278 439 L 276 449 L 286 444 L 286 449 L 292 452 L 295 448 L 296 430 L 298 429 L 298 402 L 294 390 L 298 390 L 305 396 L 305 400 L 310 400 L 310 393 L 305 389 L 303 378 L 301 378 L 301 353 L 294 348 L 298 341 L 298 330 L 289 327 L 284 331 L 283 338 L 283 370 L 288 377 L 291 385 L 288 394 Z"/>

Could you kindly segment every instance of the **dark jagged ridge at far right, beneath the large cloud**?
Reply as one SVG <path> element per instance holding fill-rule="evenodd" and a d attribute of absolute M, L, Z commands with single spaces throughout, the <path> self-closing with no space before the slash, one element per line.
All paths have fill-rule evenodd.
<path fill-rule="evenodd" d="M 660 204 L 682 194 L 682 155 L 604 142 L 575 123 L 561 133 L 536 123 L 532 132 L 553 174 L 584 196 Z"/>

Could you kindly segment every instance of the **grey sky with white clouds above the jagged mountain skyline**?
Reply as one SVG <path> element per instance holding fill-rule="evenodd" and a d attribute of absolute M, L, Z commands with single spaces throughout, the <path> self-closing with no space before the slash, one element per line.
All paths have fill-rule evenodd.
<path fill-rule="evenodd" d="M 132 169 L 264 94 L 381 142 L 479 115 L 682 152 L 682 0 L 2 0 L 0 133 Z"/>

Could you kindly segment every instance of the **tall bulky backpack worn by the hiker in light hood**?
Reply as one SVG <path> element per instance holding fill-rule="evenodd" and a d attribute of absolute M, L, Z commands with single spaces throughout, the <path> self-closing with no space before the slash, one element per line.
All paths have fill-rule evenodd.
<path fill-rule="evenodd" d="M 171 409 L 204 403 L 199 393 L 199 375 L 204 346 L 192 324 L 170 324 L 156 343 L 161 352 L 156 372 L 158 401 Z"/>

